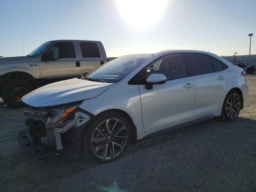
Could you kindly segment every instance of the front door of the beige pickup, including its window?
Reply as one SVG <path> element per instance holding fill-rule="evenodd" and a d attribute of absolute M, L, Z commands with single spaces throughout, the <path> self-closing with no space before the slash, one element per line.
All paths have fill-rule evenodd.
<path fill-rule="evenodd" d="M 46 54 L 52 59 L 44 61 Z M 54 43 L 39 58 L 42 78 L 76 77 L 81 75 L 81 65 L 77 46 L 72 41 Z"/>

